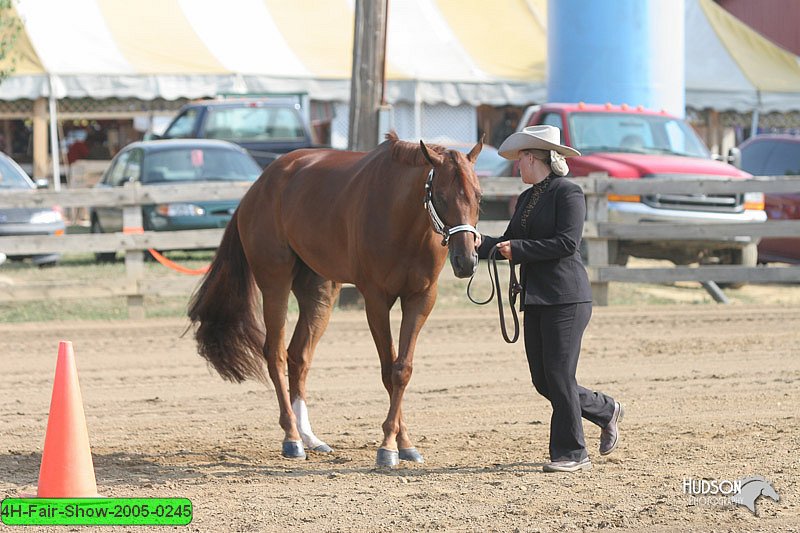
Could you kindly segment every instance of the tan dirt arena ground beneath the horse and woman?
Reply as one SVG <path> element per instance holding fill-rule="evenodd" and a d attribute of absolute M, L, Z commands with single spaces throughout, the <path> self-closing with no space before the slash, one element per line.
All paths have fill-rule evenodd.
<path fill-rule="evenodd" d="M 0 495 L 35 491 L 65 339 L 100 492 L 188 497 L 194 520 L 175 529 L 800 529 L 800 307 L 596 309 L 579 381 L 624 402 L 627 416 L 608 458 L 586 423 L 594 468 L 573 475 L 541 472 L 549 405 L 494 313 L 434 311 L 405 403 L 426 463 L 388 472 L 373 468 L 388 402 L 361 312 L 337 311 L 318 350 L 309 408 L 336 452 L 306 461 L 280 456 L 272 390 L 211 374 L 181 338 L 183 320 L 0 325 Z M 682 489 L 686 478 L 747 475 L 781 497 L 759 499 L 759 516 L 692 505 Z"/>

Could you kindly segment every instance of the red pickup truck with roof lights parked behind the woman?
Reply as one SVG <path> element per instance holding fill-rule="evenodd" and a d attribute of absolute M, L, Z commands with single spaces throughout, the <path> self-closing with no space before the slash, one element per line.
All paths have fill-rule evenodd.
<path fill-rule="evenodd" d="M 750 174 L 716 161 L 684 120 L 626 105 L 543 104 L 529 107 L 518 130 L 550 124 L 561 128 L 561 142 L 579 150 L 569 159 L 570 177 L 608 174 L 620 179 L 657 177 L 748 178 Z M 609 196 L 611 222 L 763 222 L 761 193 Z M 755 266 L 757 240 L 620 241 L 609 262 L 625 264 L 629 255 L 692 262 Z"/>

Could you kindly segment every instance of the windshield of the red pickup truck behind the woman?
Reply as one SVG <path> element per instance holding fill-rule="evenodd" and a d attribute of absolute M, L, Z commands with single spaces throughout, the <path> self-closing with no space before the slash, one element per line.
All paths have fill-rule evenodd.
<path fill-rule="evenodd" d="M 710 158 L 691 126 L 668 116 L 571 113 L 570 144 L 582 154 L 627 152 Z"/>

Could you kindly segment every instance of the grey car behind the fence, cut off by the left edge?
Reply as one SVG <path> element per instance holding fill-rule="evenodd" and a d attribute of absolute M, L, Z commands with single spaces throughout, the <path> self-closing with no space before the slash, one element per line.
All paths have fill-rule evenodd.
<path fill-rule="evenodd" d="M 22 168 L 10 157 L 0 152 L 0 194 L 38 188 Z M 0 236 L 63 235 L 66 225 L 57 207 L 20 207 L 0 209 Z M 2 250 L 0 250 L 2 252 Z M 5 254 L 0 254 L 0 258 Z M 54 265 L 59 254 L 34 255 L 30 259 L 39 266 Z M 9 256 L 12 260 L 26 259 Z M 2 263 L 2 261 L 0 261 Z"/>

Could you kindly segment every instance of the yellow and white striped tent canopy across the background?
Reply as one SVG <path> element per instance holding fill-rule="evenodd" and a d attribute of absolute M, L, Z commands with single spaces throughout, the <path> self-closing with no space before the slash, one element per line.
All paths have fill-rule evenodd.
<path fill-rule="evenodd" d="M 355 0 L 17 0 L 0 99 L 307 93 L 349 100 Z M 800 61 L 686 0 L 686 103 L 800 109 Z M 546 99 L 547 0 L 390 0 L 390 102 Z M 587 51 L 591 53 L 591 51 Z M 8 59 L 0 68 L 8 66 Z"/>

